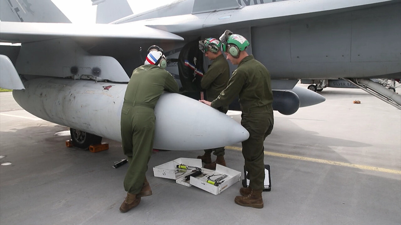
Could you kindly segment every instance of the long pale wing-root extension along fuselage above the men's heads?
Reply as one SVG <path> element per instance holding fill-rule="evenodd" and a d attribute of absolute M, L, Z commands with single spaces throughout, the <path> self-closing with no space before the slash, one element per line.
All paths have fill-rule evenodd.
<path fill-rule="evenodd" d="M 238 26 L 268 25 L 286 22 L 310 16 L 320 16 L 336 12 L 345 12 L 356 8 L 365 8 L 373 4 L 385 4 L 395 0 L 304 0 L 281 1 L 269 4 L 257 4 L 231 10 L 210 10 L 179 16 L 152 18 L 136 21 L 153 28 L 168 32 L 181 33 L 227 24 Z M 134 23 L 136 23 L 134 22 Z"/>

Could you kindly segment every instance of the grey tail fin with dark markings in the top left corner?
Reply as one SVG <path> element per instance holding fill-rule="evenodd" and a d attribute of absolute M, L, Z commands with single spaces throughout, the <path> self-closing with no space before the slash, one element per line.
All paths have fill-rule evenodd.
<path fill-rule="evenodd" d="M 0 20 L 8 22 L 71 23 L 51 0 L 1 0 Z"/>

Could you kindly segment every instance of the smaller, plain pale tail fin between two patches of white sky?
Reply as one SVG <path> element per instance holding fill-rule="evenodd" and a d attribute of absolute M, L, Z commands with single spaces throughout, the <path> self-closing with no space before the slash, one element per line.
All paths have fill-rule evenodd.
<path fill-rule="evenodd" d="M 132 14 L 127 0 L 92 0 L 92 5 L 97 5 L 98 24 L 107 24 Z"/>

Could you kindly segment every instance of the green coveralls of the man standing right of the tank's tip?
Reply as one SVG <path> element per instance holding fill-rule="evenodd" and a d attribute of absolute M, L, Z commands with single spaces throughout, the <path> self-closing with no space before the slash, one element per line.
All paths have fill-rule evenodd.
<path fill-rule="evenodd" d="M 237 94 L 242 110 L 241 125 L 249 132 L 249 139 L 242 142 L 249 187 L 260 190 L 264 188 L 265 178 L 263 141 L 273 130 L 273 93 L 269 71 L 253 55 L 241 60 L 227 88 L 213 100 L 211 106 L 218 108 L 225 105 Z"/>

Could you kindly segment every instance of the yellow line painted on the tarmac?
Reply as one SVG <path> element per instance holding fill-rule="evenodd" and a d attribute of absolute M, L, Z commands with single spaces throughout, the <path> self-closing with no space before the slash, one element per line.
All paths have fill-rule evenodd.
<path fill-rule="evenodd" d="M 234 147 L 234 146 L 226 146 L 225 148 L 242 151 L 242 148 Z M 377 171 L 377 172 L 383 172 L 383 173 L 394 173 L 394 174 L 401 175 L 401 171 L 399 171 L 399 170 L 385 169 L 385 168 L 381 168 L 381 167 L 371 167 L 371 166 L 357 165 L 357 164 L 352 164 L 352 163 L 342 163 L 342 162 L 331 161 L 331 160 L 315 159 L 315 158 L 302 157 L 302 156 L 297 156 L 297 155 L 273 153 L 273 152 L 268 152 L 268 151 L 265 151 L 265 155 L 271 155 L 271 156 L 282 157 L 282 158 L 287 158 L 287 159 L 298 159 L 298 160 L 310 161 L 310 162 L 315 162 L 315 163 L 324 163 L 324 164 L 336 165 L 336 166 L 342 166 L 342 167 L 351 167 L 351 168 L 357 168 L 357 169 L 371 170 L 371 171 Z"/>

